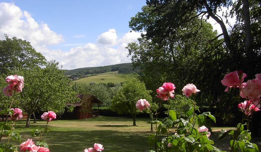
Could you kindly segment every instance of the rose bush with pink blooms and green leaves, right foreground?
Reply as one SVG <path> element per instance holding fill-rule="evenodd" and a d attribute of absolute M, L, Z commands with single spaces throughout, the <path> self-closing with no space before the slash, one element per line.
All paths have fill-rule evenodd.
<path fill-rule="evenodd" d="M 245 98 L 244 102 L 240 102 L 238 104 L 238 108 L 243 112 L 241 123 L 237 125 L 236 131 L 234 130 L 221 130 L 219 134 L 219 139 L 221 140 L 226 135 L 230 134 L 232 139 L 230 141 L 231 152 L 258 152 L 258 147 L 256 144 L 250 142 L 251 136 L 248 130 L 249 119 L 253 115 L 254 111 L 260 110 L 260 97 L 261 97 L 261 74 L 256 74 L 256 79 L 248 80 L 247 82 L 243 82 L 244 78 L 247 75 L 242 71 L 234 71 L 228 73 L 224 76 L 221 83 L 225 85 L 227 88 L 225 92 L 229 90 L 229 88 L 238 88 L 238 97 L 240 102 L 240 97 Z M 173 86 L 173 87 L 166 87 Z M 171 90 L 173 89 L 173 90 Z M 159 87 L 156 92 L 156 97 L 160 98 L 159 105 L 167 102 L 169 98 L 174 97 L 174 84 L 164 83 L 163 86 Z M 186 97 L 190 97 L 192 95 L 196 95 L 196 93 L 200 92 L 196 88 L 195 85 L 187 84 L 182 89 L 183 94 Z M 206 124 L 207 117 L 212 121 L 216 121 L 215 117 L 210 114 L 210 112 L 204 112 L 200 115 L 195 113 L 195 100 L 193 106 L 185 105 L 183 107 L 184 113 L 187 115 L 187 119 L 177 119 L 176 112 L 173 110 L 169 110 L 168 106 L 168 117 L 163 119 L 162 121 L 156 120 L 149 121 L 149 124 L 156 124 L 155 133 L 149 136 L 149 145 L 150 150 L 148 152 L 171 152 L 171 151 L 221 151 L 217 147 L 214 146 L 214 142 L 209 139 L 210 132 L 208 128 L 204 125 Z M 160 106 L 159 106 L 160 107 Z M 157 113 L 156 113 L 157 115 Z M 245 117 L 247 117 L 247 123 L 243 124 Z M 169 128 L 178 124 L 178 128 L 176 129 L 176 133 L 173 135 L 169 135 Z M 197 124 L 199 126 L 198 129 L 195 129 L 194 126 Z M 247 130 L 244 130 L 244 127 L 247 127 Z M 164 138 L 159 138 L 158 134 L 167 134 Z"/>

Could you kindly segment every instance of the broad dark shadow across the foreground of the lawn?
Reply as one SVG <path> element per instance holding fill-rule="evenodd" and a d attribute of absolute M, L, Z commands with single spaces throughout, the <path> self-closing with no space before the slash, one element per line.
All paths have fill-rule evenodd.
<path fill-rule="evenodd" d="M 22 142 L 27 140 L 30 132 L 23 132 Z M 93 147 L 94 143 L 100 143 L 105 148 L 104 152 L 137 152 L 148 150 L 148 135 L 150 132 L 124 132 L 112 130 L 93 131 L 51 131 L 44 135 L 50 151 L 54 152 L 82 152 L 85 148 Z M 34 137 L 37 141 L 39 137 Z M 17 145 L 17 142 L 14 143 Z"/>

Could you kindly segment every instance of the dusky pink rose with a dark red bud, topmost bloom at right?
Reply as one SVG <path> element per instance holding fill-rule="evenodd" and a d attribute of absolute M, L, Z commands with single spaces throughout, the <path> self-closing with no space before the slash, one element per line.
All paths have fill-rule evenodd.
<path fill-rule="evenodd" d="M 237 71 L 226 74 L 223 80 L 221 80 L 221 83 L 227 86 L 225 92 L 228 92 L 228 88 L 239 86 L 244 81 L 246 76 L 247 75 L 243 73 L 241 79 L 239 79 Z"/>

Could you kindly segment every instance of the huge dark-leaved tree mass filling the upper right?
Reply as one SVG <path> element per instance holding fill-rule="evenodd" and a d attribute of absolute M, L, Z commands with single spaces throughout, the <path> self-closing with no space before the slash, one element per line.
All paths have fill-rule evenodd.
<path fill-rule="evenodd" d="M 233 5 L 230 13 L 236 14 L 238 21 L 229 35 L 224 23 L 217 12 L 221 7 Z M 248 73 L 248 78 L 260 72 L 260 2 L 250 2 L 250 18 L 252 37 L 255 45 L 253 51 L 246 49 L 245 17 L 241 1 L 178 1 L 151 0 L 143 6 L 129 22 L 134 31 L 146 31 L 139 44 L 128 45 L 132 62 L 139 66 L 142 77 L 149 89 L 156 88 L 163 81 L 174 82 L 179 92 L 187 83 L 196 84 L 201 91 L 201 104 L 216 105 L 217 122 L 223 123 L 223 118 L 230 115 L 223 111 L 230 109 L 234 101 L 231 96 L 224 94 L 220 83 L 223 75 L 229 71 L 242 69 Z M 247 12 L 247 11 L 246 11 Z M 221 26 L 222 34 L 212 32 L 212 27 L 204 20 L 203 15 L 213 18 Z M 244 17 L 245 18 L 244 18 Z M 229 22 L 229 21 L 228 21 Z M 254 30 L 253 30 L 254 29 Z M 255 31 L 255 33 L 253 33 Z M 260 30 L 259 30 L 260 31 Z M 218 39 L 223 35 L 223 39 Z M 250 41 L 251 43 L 251 41 Z M 252 58 L 251 58 L 252 56 Z M 252 60 L 249 60 L 252 59 Z M 158 84 L 159 83 L 159 84 Z M 232 92 L 233 93 L 233 92 Z M 236 107 L 234 107 L 236 111 Z"/>

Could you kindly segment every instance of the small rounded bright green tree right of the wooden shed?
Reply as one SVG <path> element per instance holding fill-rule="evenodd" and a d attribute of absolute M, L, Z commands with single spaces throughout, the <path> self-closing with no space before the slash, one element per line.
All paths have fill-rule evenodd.
<path fill-rule="evenodd" d="M 139 99 L 146 99 L 151 103 L 150 90 L 136 77 L 128 78 L 111 100 L 111 109 L 119 114 L 129 113 L 133 116 L 133 126 L 136 126 L 136 115 L 139 110 L 135 104 Z"/>

